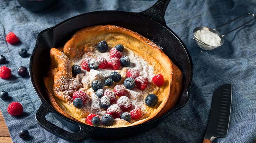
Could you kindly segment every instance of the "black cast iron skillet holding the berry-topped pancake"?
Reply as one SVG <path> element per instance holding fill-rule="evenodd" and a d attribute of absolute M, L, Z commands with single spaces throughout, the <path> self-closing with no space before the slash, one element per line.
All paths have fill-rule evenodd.
<path fill-rule="evenodd" d="M 52 134 L 71 141 L 81 142 L 89 137 L 127 137 L 138 135 L 156 126 L 170 113 L 186 105 L 190 98 L 189 88 L 192 80 L 193 67 L 187 48 L 181 39 L 169 29 L 164 20 L 165 10 L 170 0 L 158 0 L 149 9 L 134 13 L 124 11 L 95 11 L 84 13 L 67 19 L 54 27 L 41 31 L 36 39 L 36 46 L 30 59 L 30 78 L 32 85 L 41 100 L 41 106 L 36 113 L 37 122 Z M 164 53 L 181 69 L 183 73 L 183 89 L 180 103 L 159 118 L 146 123 L 121 127 L 101 128 L 89 126 L 69 119 L 58 113 L 50 106 L 43 77 L 47 74 L 50 65 L 50 49 L 63 46 L 71 36 L 81 28 L 94 25 L 112 24 L 135 31 L 154 41 L 163 48 Z M 45 115 L 54 115 L 62 124 L 73 133 L 49 122 Z"/>

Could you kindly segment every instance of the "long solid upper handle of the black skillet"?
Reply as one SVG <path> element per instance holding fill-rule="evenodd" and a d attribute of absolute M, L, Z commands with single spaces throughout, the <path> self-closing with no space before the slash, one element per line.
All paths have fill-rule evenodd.
<path fill-rule="evenodd" d="M 158 0 L 149 9 L 140 12 L 144 17 L 147 17 L 153 21 L 156 21 L 162 25 L 166 25 L 164 20 L 165 10 L 169 4 L 170 0 Z"/>

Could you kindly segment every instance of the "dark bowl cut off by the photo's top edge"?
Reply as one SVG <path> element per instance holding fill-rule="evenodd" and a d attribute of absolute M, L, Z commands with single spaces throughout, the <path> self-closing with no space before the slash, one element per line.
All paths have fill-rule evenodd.
<path fill-rule="evenodd" d="M 55 5 L 59 0 L 17 0 L 18 3 L 33 12 L 43 11 Z"/>

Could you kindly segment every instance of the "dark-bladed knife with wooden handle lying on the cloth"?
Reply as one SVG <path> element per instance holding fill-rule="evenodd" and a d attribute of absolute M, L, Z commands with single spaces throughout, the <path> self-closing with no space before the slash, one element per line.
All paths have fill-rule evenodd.
<path fill-rule="evenodd" d="M 203 143 L 212 143 L 218 137 L 226 137 L 230 120 L 232 84 L 224 84 L 213 93 L 209 121 Z"/>

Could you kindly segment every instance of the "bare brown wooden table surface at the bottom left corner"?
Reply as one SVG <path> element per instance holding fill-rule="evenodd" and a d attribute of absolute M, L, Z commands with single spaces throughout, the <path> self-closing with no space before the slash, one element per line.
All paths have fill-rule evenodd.
<path fill-rule="evenodd" d="M 0 143 L 12 143 L 8 128 L 4 122 L 3 115 L 0 111 Z"/>

